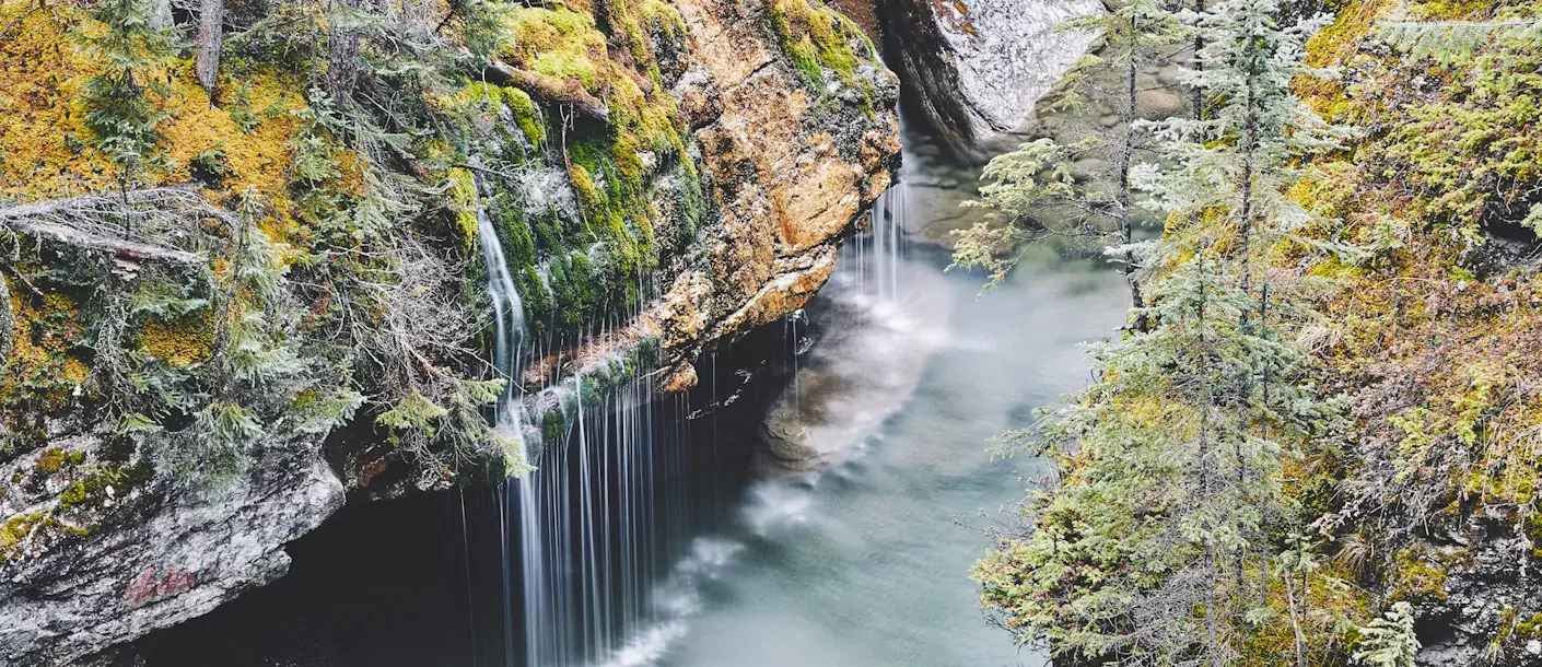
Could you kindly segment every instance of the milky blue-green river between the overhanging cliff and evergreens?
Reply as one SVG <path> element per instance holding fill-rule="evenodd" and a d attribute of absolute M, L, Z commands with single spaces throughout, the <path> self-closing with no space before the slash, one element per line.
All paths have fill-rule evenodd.
<path fill-rule="evenodd" d="M 961 180 L 931 166 L 950 171 L 908 176 Z M 958 193 L 910 186 L 905 197 L 916 216 Z M 728 525 L 700 538 L 719 565 L 700 578 L 689 630 L 657 664 L 1044 664 L 985 622 L 967 578 L 988 547 L 988 514 L 1024 496 L 1019 478 L 1039 474 L 1035 461 L 993 458 L 990 441 L 1087 382 L 1079 344 L 1123 323 L 1123 282 L 1106 262 L 1030 251 L 981 296 L 978 274 L 944 273 L 942 248 L 911 239 L 888 257 L 871 245 L 847 257 L 870 268 L 845 266 L 810 308 L 816 325 L 820 311 L 837 317 L 823 325 L 839 336 L 802 359 L 827 380 L 797 402 L 806 428 L 873 428 L 830 470 L 751 482 Z M 874 280 L 885 273 L 897 280 Z M 896 393 L 894 376 L 914 382 Z M 864 399 L 873 387 L 876 402 Z"/>

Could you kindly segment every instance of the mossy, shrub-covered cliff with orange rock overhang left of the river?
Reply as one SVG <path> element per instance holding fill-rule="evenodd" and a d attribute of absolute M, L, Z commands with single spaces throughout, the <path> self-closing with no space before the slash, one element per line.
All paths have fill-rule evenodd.
<path fill-rule="evenodd" d="M 897 165 L 897 83 L 817 2 L 233 5 L 210 91 L 191 25 L 105 14 L 154 9 L 0 5 L 6 665 L 282 576 L 350 491 L 517 468 L 478 408 L 478 214 L 532 368 L 609 342 L 683 388 Z"/>

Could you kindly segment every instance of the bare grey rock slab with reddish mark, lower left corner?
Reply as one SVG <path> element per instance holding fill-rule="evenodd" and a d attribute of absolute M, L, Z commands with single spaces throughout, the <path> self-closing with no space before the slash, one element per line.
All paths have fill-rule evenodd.
<path fill-rule="evenodd" d="M 39 461 L 48 451 L 94 456 L 99 445 L 80 436 L 0 468 L 23 481 L 0 510 L 12 513 L 68 482 L 69 467 L 49 471 L 54 465 Z M 29 487 L 35 493 L 25 494 Z M 315 442 L 290 442 L 268 447 L 250 476 L 217 490 L 146 485 L 111 496 L 93 508 L 100 524 L 86 539 L 5 570 L 0 664 L 119 661 L 114 647 L 282 576 L 284 544 L 342 507 L 344 490 Z"/>

